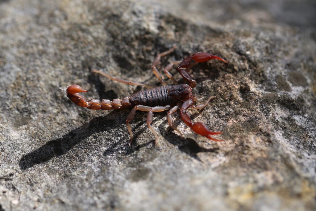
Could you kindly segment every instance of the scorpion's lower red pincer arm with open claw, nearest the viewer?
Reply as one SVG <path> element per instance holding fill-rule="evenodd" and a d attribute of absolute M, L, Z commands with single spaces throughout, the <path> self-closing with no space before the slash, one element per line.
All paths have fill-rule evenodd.
<path fill-rule="evenodd" d="M 218 140 L 211 137 L 212 135 L 218 135 L 218 134 L 221 134 L 222 132 L 212 132 L 202 122 L 196 122 L 194 124 L 192 123 L 190 116 L 186 113 L 186 110 L 190 108 L 193 105 L 193 103 L 194 103 L 194 99 L 189 98 L 182 104 L 180 108 L 180 116 L 182 120 L 185 122 L 185 124 L 189 126 L 195 133 L 199 135 L 203 135 L 210 140 L 223 141 L 223 140 Z"/>

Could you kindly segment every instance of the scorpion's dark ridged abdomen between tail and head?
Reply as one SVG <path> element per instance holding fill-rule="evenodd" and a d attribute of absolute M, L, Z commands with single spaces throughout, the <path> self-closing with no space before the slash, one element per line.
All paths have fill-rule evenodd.
<path fill-rule="evenodd" d="M 167 92 L 168 87 L 170 87 L 170 85 L 137 92 L 129 97 L 129 102 L 132 105 L 144 105 L 150 107 L 173 104 L 173 100 Z"/>

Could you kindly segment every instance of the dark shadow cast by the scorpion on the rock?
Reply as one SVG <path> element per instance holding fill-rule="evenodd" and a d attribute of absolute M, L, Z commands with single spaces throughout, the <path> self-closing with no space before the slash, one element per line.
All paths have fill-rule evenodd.
<path fill-rule="evenodd" d="M 112 112 L 117 112 L 117 111 L 112 111 Z M 69 133 L 65 134 L 63 137 L 54 139 L 51 141 L 48 141 L 46 144 L 41 146 L 40 148 L 33 150 L 32 152 L 29 152 L 26 155 L 23 155 L 22 158 L 19 161 L 19 166 L 21 170 L 26 170 L 28 168 L 33 167 L 36 164 L 41 164 L 44 163 L 53 157 L 59 157 L 69 150 L 71 150 L 74 146 L 76 146 L 78 143 L 80 143 L 82 140 L 85 140 L 89 136 L 93 135 L 94 133 L 99 133 L 102 131 L 110 130 L 113 129 L 117 126 L 113 126 L 113 121 L 110 121 L 108 118 L 109 115 L 112 114 L 109 113 L 106 116 L 101 116 L 101 117 L 95 117 L 88 123 L 83 124 L 81 127 L 78 127 Z M 192 115 L 194 117 L 195 115 Z M 157 116 L 153 120 L 153 123 L 157 121 L 161 117 Z M 119 124 L 119 123 L 118 123 Z M 164 127 L 162 126 L 163 124 L 167 124 L 167 121 L 163 121 L 161 125 L 159 126 L 159 131 L 164 130 Z M 140 121 L 133 129 L 137 129 L 138 127 L 141 127 L 142 125 L 146 125 L 146 121 Z M 134 134 L 135 140 L 133 141 L 132 146 L 130 147 L 128 145 L 129 142 L 129 136 L 126 134 L 124 135 L 119 141 L 113 143 L 111 146 L 109 146 L 106 151 L 103 153 L 104 156 L 113 154 L 118 151 L 125 152 L 125 155 L 129 155 L 131 153 L 134 153 L 136 151 L 139 151 L 141 148 L 145 146 L 155 146 L 154 140 L 148 141 L 144 144 L 138 144 L 137 143 L 137 137 L 143 133 L 147 128 L 143 127 L 142 129 L 138 130 L 137 133 Z M 127 133 L 127 130 L 126 130 Z M 169 137 L 172 134 L 172 129 L 168 129 L 167 134 Z M 181 139 L 179 135 L 176 135 L 175 133 L 172 134 L 174 137 L 173 139 L 165 137 L 165 139 L 175 145 L 178 146 L 179 150 L 182 152 L 185 152 L 186 154 L 190 155 L 192 158 L 195 158 L 199 161 L 200 158 L 198 158 L 197 153 L 199 152 L 215 152 L 218 150 L 218 148 L 203 148 L 200 147 L 197 142 L 193 139 L 186 138 L 186 139 Z M 128 141 L 126 141 L 128 140 Z M 125 142 L 122 146 L 122 142 Z M 88 143 L 87 143 L 88 144 Z"/>

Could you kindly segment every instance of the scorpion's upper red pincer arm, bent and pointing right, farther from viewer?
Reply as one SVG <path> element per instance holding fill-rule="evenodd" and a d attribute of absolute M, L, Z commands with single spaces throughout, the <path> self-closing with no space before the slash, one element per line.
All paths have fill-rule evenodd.
<path fill-rule="evenodd" d="M 188 82 L 188 84 L 194 88 L 197 84 L 197 82 L 191 77 L 189 74 L 189 71 L 191 70 L 192 66 L 197 63 L 197 62 L 206 62 L 211 59 L 218 59 L 221 60 L 225 63 L 227 63 L 226 60 L 222 59 L 219 56 L 215 56 L 210 53 L 205 53 L 205 52 L 199 52 L 199 53 L 194 53 L 182 60 L 182 62 L 179 64 L 177 70 L 179 74 L 184 78 L 185 81 Z M 195 63 L 191 63 L 192 60 L 195 61 Z"/>

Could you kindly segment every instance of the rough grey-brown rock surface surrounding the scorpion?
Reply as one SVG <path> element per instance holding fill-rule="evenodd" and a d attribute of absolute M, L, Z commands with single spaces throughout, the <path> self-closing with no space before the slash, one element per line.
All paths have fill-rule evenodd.
<path fill-rule="evenodd" d="M 315 210 L 313 1 L 0 1 L 0 210 Z M 159 3 L 158 3 L 159 2 Z M 63 90 L 111 99 L 157 84 L 150 63 L 207 51 L 194 121 L 212 142 L 155 113 L 75 106 Z M 173 73 L 175 71 L 173 70 Z M 177 76 L 179 78 L 179 76 Z"/>

